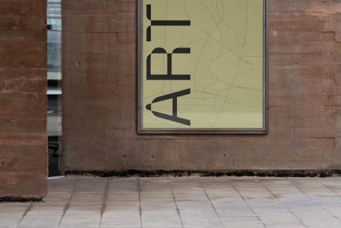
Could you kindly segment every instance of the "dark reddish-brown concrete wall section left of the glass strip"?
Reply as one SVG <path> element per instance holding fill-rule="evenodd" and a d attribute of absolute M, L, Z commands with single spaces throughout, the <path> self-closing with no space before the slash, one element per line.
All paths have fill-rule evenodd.
<path fill-rule="evenodd" d="M 46 1 L 0 2 L 0 197 L 47 191 Z"/>

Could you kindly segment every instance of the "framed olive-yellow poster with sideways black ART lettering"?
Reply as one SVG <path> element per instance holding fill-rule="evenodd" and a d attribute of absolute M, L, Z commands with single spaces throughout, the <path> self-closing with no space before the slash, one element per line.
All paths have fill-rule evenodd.
<path fill-rule="evenodd" d="M 138 1 L 138 133 L 267 133 L 267 5 Z"/>

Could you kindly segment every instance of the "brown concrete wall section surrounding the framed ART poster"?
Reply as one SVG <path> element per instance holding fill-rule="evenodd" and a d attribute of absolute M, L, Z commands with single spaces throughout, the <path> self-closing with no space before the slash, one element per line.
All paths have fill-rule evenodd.
<path fill-rule="evenodd" d="M 135 1 L 64 1 L 65 170 L 341 168 L 340 12 L 270 2 L 269 135 L 137 135 Z"/>

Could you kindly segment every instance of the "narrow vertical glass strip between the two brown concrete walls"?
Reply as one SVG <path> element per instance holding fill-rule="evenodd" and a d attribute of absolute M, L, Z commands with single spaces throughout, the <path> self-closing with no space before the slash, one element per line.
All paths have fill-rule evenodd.
<path fill-rule="evenodd" d="M 48 176 L 63 174 L 61 0 L 48 0 Z"/>

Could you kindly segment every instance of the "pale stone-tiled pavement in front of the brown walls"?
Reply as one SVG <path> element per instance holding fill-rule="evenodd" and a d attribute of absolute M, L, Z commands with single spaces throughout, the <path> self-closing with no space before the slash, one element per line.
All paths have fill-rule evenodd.
<path fill-rule="evenodd" d="M 68 176 L 0 227 L 341 227 L 341 178 Z"/>

